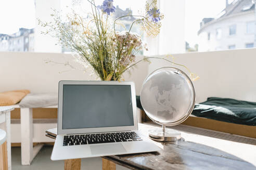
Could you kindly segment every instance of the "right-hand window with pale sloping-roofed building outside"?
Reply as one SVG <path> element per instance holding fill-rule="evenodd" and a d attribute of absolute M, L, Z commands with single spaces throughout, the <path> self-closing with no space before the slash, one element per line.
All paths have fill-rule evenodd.
<path fill-rule="evenodd" d="M 198 44 L 199 52 L 225 50 L 229 49 L 229 46 L 232 49 L 233 45 L 235 49 L 245 48 L 246 44 L 252 43 L 254 39 L 253 7 L 254 4 L 249 0 L 197 0 L 197 3 L 185 1 L 185 41 L 191 47 Z M 195 12 L 199 8 L 201 12 Z"/>

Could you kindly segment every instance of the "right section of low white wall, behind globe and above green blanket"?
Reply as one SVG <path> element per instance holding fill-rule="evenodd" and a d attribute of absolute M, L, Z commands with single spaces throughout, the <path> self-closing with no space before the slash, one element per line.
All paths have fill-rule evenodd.
<path fill-rule="evenodd" d="M 256 102 L 256 48 L 174 54 L 174 61 L 200 76 L 195 81 L 197 102 L 207 97 L 229 97 Z M 162 66 L 176 66 L 151 60 L 149 73 Z M 183 67 L 178 67 L 187 70 Z"/>

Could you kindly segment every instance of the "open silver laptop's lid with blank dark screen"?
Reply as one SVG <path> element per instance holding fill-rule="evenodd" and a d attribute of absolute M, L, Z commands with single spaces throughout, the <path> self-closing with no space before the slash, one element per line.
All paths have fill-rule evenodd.
<path fill-rule="evenodd" d="M 59 82 L 58 134 L 137 129 L 133 82 Z"/>

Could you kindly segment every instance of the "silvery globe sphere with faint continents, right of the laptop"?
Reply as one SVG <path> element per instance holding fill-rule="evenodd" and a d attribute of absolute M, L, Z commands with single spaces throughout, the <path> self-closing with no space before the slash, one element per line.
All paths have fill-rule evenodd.
<path fill-rule="evenodd" d="M 195 89 L 181 69 L 162 67 L 145 79 L 140 102 L 147 116 L 164 128 L 188 118 L 195 106 Z M 154 133 L 159 132 L 154 130 Z"/>

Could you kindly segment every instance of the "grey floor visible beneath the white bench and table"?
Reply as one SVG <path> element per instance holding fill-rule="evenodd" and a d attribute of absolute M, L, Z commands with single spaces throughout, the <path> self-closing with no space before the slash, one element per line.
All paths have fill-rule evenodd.
<path fill-rule="evenodd" d="M 50 154 L 53 146 L 44 146 L 36 155 L 31 165 L 21 165 L 20 147 L 11 147 L 12 170 L 43 170 L 43 169 L 64 169 L 64 161 L 51 161 Z M 81 169 L 95 170 L 101 169 L 101 158 L 82 159 Z M 127 168 L 117 165 L 117 170 L 127 170 Z"/>

